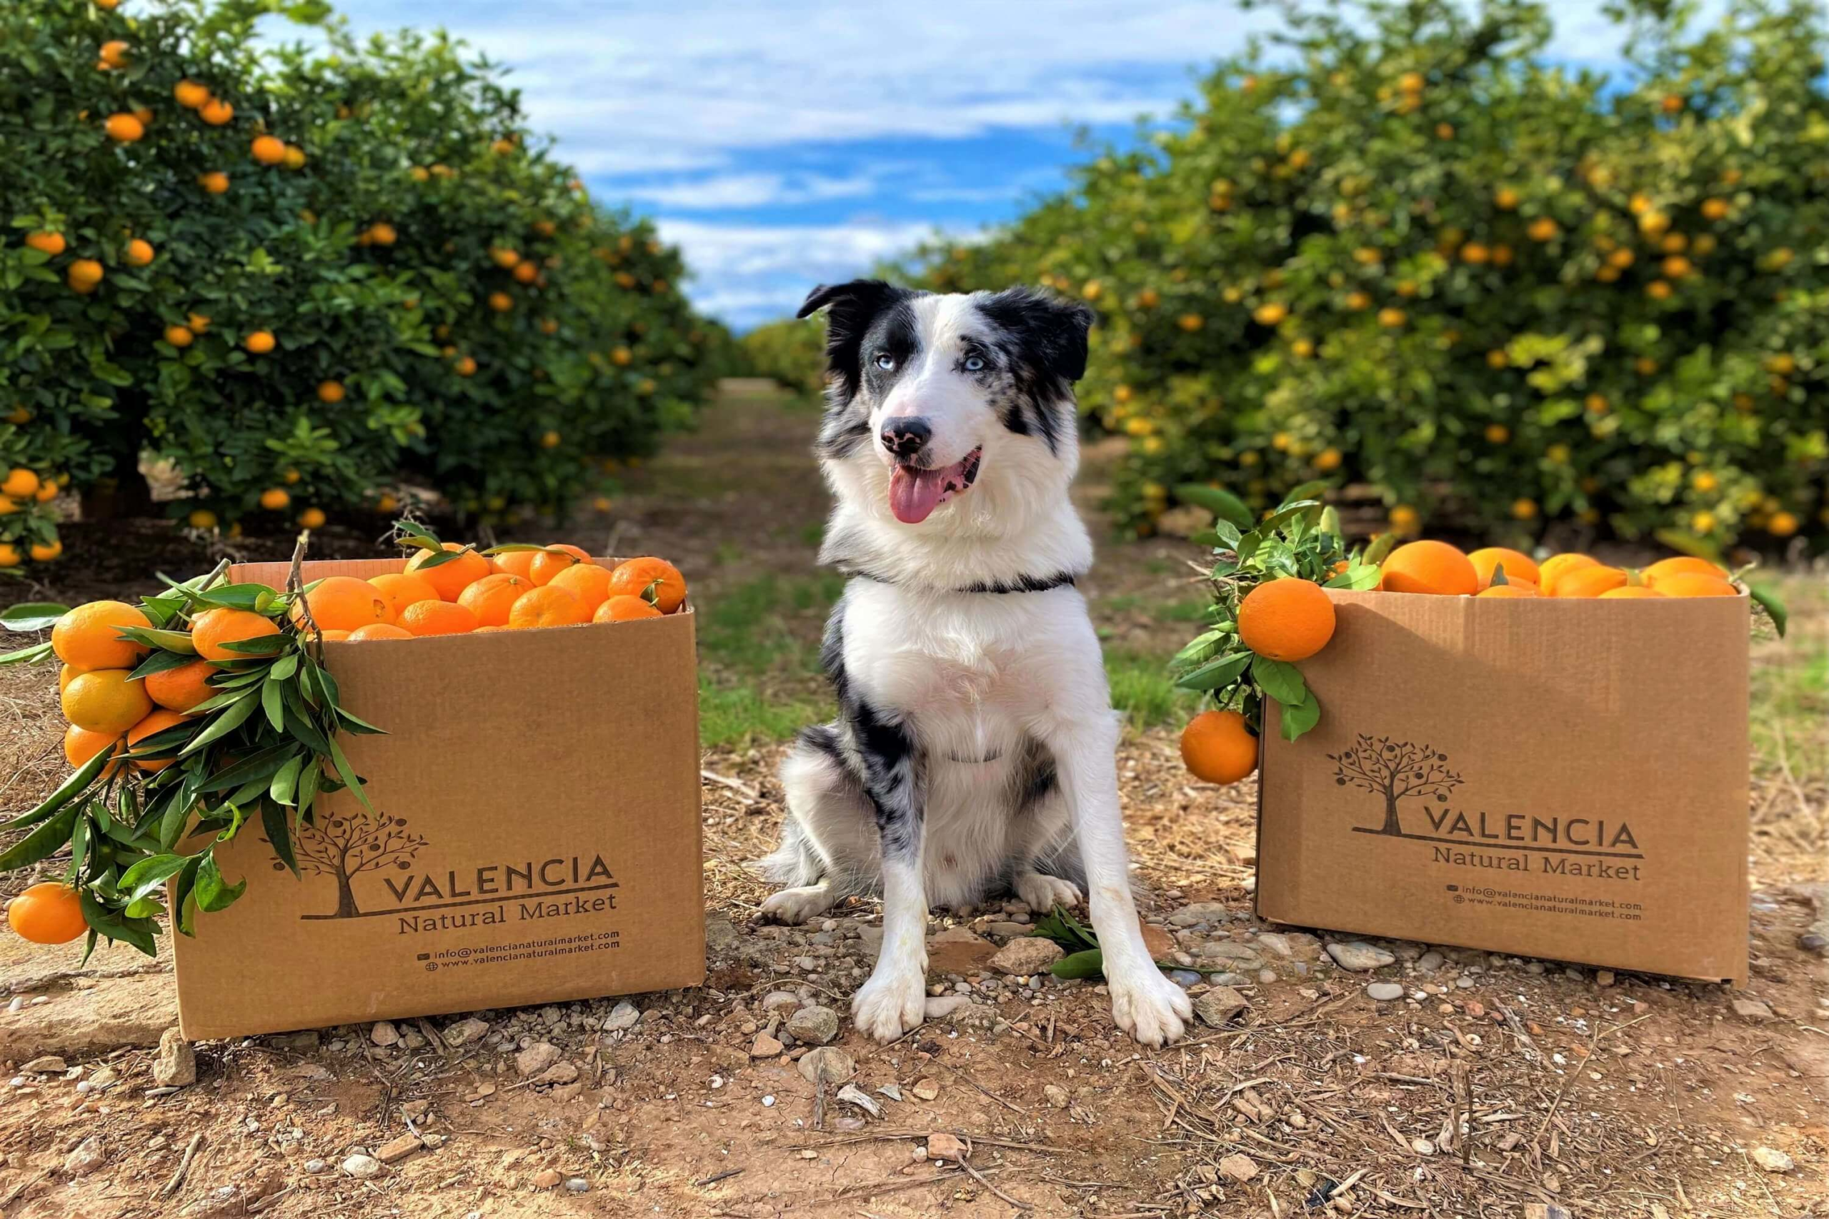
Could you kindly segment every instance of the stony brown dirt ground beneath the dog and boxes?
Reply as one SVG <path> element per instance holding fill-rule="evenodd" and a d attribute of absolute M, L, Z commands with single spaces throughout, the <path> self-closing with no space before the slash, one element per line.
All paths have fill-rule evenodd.
<path fill-rule="evenodd" d="M 825 506 L 810 433 L 803 409 L 733 395 L 591 526 L 611 552 L 675 557 L 701 607 L 805 578 Z M 1088 503 L 1097 481 L 1094 455 Z M 373 552 L 349 530 L 326 543 Z M 0 596 L 137 592 L 212 559 L 155 525 L 79 525 L 70 550 L 68 583 Z M 1110 643 L 1167 654 L 1185 634 L 1138 605 L 1185 598 L 1189 556 L 1103 548 Z M 816 638 L 818 618 L 770 627 Z M 715 678 L 719 656 L 704 663 Z M 0 671 L 0 806 L 60 779 L 60 727 L 46 671 Z M 1235 969 L 1214 981 L 1244 1000 L 1196 985 L 1216 1023 L 1139 1051 L 1101 987 L 984 961 L 1022 934 L 1019 906 L 936 916 L 955 943 L 929 1022 L 894 1045 L 856 1036 L 876 908 L 752 925 L 766 890 L 741 864 L 779 826 L 777 758 L 704 758 L 711 972 L 695 991 L 199 1044 L 196 1082 L 165 1087 L 165 961 L 117 950 L 77 970 L 70 949 L 7 938 L 0 1215 L 1829 1215 L 1820 779 L 1778 766 L 1756 784 L 1745 991 L 1392 941 L 1375 941 L 1390 963 L 1353 972 L 1326 950 L 1350 938 L 1253 917 L 1251 786 L 1193 784 L 1172 731 L 1134 733 L 1119 769 L 1147 921 L 1183 963 Z"/>

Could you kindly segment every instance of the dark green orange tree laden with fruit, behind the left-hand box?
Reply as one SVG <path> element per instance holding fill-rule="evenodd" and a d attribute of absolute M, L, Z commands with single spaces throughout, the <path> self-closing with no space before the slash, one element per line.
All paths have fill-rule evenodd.
<path fill-rule="evenodd" d="M 0 11 L 0 461 L 134 490 L 150 451 L 198 528 L 402 484 L 490 523 L 690 420 L 728 336 L 492 66 L 318 2 L 134 7 Z M 263 49 L 269 13 L 320 46 Z M 15 537 L 55 539 L 49 508 Z"/>

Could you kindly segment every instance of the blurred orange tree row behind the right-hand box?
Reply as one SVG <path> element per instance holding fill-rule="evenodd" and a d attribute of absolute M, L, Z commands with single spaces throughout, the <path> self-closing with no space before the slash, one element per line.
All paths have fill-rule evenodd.
<path fill-rule="evenodd" d="M 1611 77 L 1546 62 L 1525 0 L 1280 7 L 1167 130 L 911 267 L 1099 311 L 1083 404 L 1130 440 L 1128 525 L 1324 477 L 1399 532 L 1829 537 L 1816 5 L 1615 4 Z"/>

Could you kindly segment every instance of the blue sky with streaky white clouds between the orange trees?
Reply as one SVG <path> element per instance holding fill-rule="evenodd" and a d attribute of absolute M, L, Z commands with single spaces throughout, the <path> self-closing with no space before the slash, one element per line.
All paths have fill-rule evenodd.
<path fill-rule="evenodd" d="M 510 66 L 534 130 L 593 196 L 655 216 L 688 292 L 739 329 L 936 230 L 1015 216 L 1083 157 L 1077 130 L 1128 139 L 1271 20 L 1231 0 L 338 7 L 360 33 L 444 26 Z M 1613 57 L 1599 4 L 1551 7 L 1558 58 Z"/>

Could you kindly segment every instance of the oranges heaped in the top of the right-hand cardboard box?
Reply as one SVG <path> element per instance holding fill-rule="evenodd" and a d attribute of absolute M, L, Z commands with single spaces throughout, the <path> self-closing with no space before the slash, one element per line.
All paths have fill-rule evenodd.
<path fill-rule="evenodd" d="M 1739 596 L 1727 570 L 1690 556 L 1659 559 L 1637 570 L 1606 567 L 1586 554 L 1556 554 L 1542 563 L 1505 546 L 1463 554 L 1445 541 L 1412 541 L 1392 550 L 1383 563 L 1379 588 L 1436 596 L 1606 601 Z"/>

